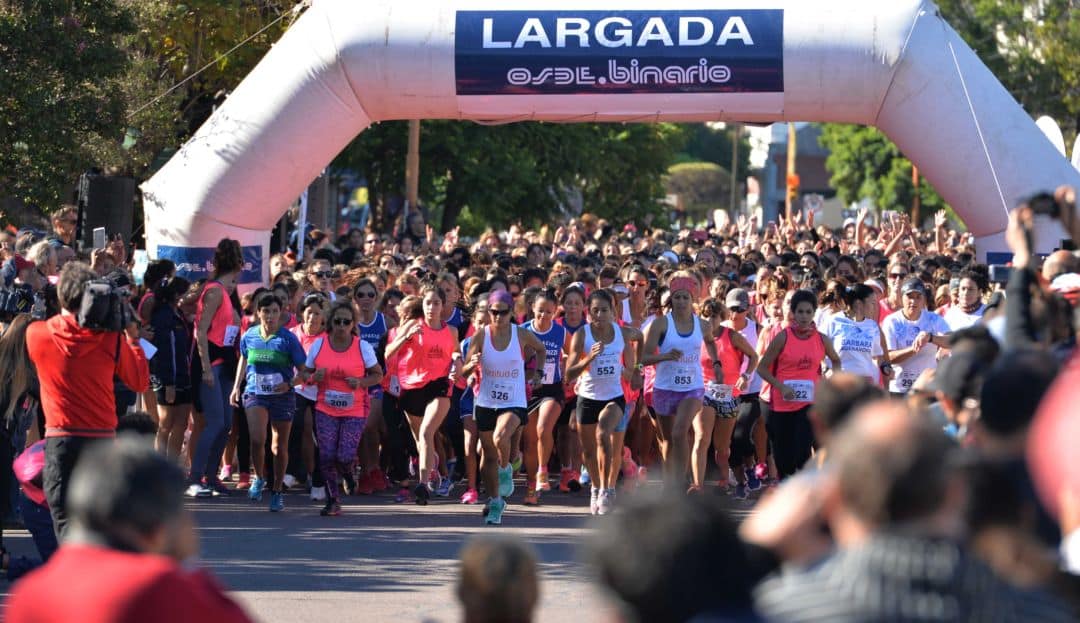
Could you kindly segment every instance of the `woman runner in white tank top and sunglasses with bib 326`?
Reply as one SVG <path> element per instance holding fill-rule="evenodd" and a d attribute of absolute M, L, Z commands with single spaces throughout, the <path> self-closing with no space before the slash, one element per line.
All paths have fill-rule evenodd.
<path fill-rule="evenodd" d="M 484 487 L 491 496 L 486 522 L 497 525 L 502 522 L 507 506 L 504 498 L 514 491 L 511 439 L 517 429 L 528 423 L 526 379 L 534 388 L 540 385 L 541 362 L 546 355 L 536 335 L 511 324 L 514 299 L 509 293 L 496 290 L 488 295 L 487 311 L 491 324 L 483 334 L 473 336 L 461 374 L 468 376 L 477 368 L 481 370 L 473 418 L 484 449 L 481 456 Z"/>

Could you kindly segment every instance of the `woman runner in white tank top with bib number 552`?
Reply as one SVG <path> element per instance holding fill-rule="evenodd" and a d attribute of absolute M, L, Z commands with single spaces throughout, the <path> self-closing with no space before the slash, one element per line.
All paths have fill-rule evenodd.
<path fill-rule="evenodd" d="M 607 290 L 589 295 L 589 319 L 584 329 L 570 339 L 566 378 L 578 380 L 578 434 L 592 475 L 590 510 L 604 515 L 615 503 L 622 443 L 630 424 L 622 380 L 635 389 L 642 383 L 637 353 L 629 344 L 640 344 L 643 337 L 637 329 L 616 324 L 615 298 Z"/>

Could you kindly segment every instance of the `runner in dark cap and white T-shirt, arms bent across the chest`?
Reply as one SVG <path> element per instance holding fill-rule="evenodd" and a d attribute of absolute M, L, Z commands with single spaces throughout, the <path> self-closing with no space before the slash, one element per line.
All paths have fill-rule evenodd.
<path fill-rule="evenodd" d="M 903 304 L 881 322 L 881 333 L 895 373 L 889 392 L 904 395 L 923 370 L 937 366 L 937 349 L 948 348 L 949 327 L 927 310 L 927 286 L 918 277 L 905 281 L 899 292 Z"/>

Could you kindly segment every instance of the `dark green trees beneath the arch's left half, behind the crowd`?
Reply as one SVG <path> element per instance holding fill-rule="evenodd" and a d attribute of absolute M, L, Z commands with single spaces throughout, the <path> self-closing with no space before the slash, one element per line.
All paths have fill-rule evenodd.
<path fill-rule="evenodd" d="M 407 125 L 369 127 L 335 161 L 367 179 L 379 227 L 390 225 L 382 218 L 383 198 L 403 193 Z M 539 226 L 559 214 L 575 190 L 586 211 L 625 222 L 660 212 L 662 176 L 680 143 L 679 127 L 663 123 L 426 121 L 420 198 L 442 213 L 433 225 L 443 231 L 461 225 L 467 234 L 512 222 Z"/>

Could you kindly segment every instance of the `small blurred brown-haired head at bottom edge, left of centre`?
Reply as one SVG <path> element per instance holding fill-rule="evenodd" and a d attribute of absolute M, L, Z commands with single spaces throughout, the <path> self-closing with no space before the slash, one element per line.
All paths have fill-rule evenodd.
<path fill-rule="evenodd" d="M 518 539 L 472 539 L 461 551 L 457 595 L 465 623 L 528 623 L 540 597 L 536 556 Z"/>

